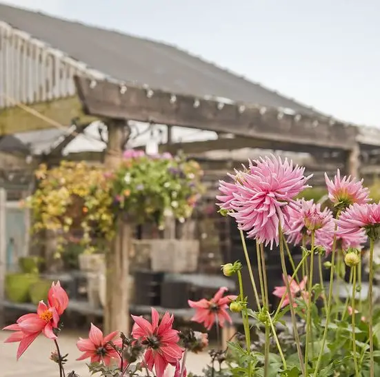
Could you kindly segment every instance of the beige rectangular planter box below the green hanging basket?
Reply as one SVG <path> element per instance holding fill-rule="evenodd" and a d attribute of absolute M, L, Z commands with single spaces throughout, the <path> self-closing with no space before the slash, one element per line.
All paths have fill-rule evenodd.
<path fill-rule="evenodd" d="M 199 241 L 152 240 L 150 258 L 153 272 L 195 272 L 198 268 Z"/>

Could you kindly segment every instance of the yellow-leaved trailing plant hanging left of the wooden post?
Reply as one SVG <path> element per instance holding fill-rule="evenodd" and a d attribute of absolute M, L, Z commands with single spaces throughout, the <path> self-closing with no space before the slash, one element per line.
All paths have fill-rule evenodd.
<path fill-rule="evenodd" d="M 92 236 L 112 238 L 114 214 L 110 181 L 103 167 L 86 162 L 62 161 L 48 169 L 41 165 L 36 172 L 37 190 L 25 205 L 33 216 L 33 232 L 51 230 L 59 241 L 57 254 L 70 241 L 73 232 L 79 232 L 79 243 L 87 251 L 94 249 Z"/>

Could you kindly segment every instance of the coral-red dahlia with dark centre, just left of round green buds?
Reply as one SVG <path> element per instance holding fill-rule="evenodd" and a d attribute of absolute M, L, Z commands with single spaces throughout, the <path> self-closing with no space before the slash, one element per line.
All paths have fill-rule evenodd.
<path fill-rule="evenodd" d="M 189 306 L 196 310 L 195 315 L 191 320 L 203 323 L 204 327 L 208 330 L 211 329 L 215 322 L 217 322 L 220 327 L 224 326 L 226 320 L 229 323 L 232 323 L 232 319 L 228 314 L 227 309 L 228 304 L 235 300 L 237 296 L 232 294 L 223 296 L 227 291 L 227 287 L 221 287 L 211 300 L 206 300 L 206 298 L 202 298 L 199 301 L 188 300 Z"/>

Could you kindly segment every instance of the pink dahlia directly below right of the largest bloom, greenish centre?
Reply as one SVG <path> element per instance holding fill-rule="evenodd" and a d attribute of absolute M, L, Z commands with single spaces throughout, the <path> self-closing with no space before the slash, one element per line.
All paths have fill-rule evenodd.
<path fill-rule="evenodd" d="M 330 229 L 331 211 L 328 208 L 321 211 L 321 205 L 312 200 L 297 200 L 297 204 L 297 207 L 289 209 L 289 221 L 284 226 L 288 242 L 300 245 L 303 236 L 307 236 L 306 244 L 310 244 L 311 230 L 314 230 L 315 246 L 330 250 L 330 238 L 334 236 L 334 228 Z"/>

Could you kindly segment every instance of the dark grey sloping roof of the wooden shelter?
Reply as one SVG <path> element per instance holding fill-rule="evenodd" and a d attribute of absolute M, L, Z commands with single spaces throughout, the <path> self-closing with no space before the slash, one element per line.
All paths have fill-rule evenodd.
<path fill-rule="evenodd" d="M 312 108 L 166 43 L 1 3 L 0 19 L 114 79 L 195 96 L 220 96 L 321 115 Z"/>

